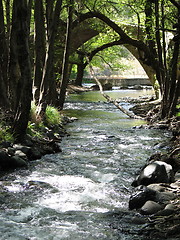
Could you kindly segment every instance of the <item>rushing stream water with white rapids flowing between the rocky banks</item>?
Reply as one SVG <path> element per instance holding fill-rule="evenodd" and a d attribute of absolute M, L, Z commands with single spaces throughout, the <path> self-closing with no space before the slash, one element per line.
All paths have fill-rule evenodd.
<path fill-rule="evenodd" d="M 137 235 L 142 225 L 133 224 L 135 213 L 128 210 L 131 183 L 169 134 L 134 128 L 144 122 L 127 118 L 97 92 L 71 95 L 65 113 L 78 121 L 67 125 L 70 136 L 62 141 L 63 152 L 46 155 L 0 182 L 0 239 L 148 239 Z"/>

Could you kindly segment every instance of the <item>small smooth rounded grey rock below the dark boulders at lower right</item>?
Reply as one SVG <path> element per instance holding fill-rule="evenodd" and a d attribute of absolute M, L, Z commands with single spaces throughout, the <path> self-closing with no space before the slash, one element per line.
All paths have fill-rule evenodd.
<path fill-rule="evenodd" d="M 162 207 L 159 203 L 154 201 L 147 201 L 141 208 L 140 212 L 144 215 L 152 215 L 162 210 Z"/>

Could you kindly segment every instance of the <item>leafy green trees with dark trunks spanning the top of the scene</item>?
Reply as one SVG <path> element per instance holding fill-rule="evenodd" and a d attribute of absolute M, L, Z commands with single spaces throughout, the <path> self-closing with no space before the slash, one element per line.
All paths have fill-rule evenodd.
<path fill-rule="evenodd" d="M 73 66 L 81 85 L 93 57 L 120 45 L 158 84 L 159 119 L 172 117 L 180 89 L 179 1 L 0 0 L 0 107 L 13 116 L 14 136 L 25 136 L 32 102 L 41 118 L 48 105 L 63 109 Z"/>

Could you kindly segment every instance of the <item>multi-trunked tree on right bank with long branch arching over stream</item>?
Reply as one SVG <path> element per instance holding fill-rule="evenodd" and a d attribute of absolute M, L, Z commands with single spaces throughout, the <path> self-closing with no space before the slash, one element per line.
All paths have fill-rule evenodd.
<path fill-rule="evenodd" d="M 170 2 L 173 4 L 169 5 Z M 161 5 L 159 5 L 161 3 Z M 156 74 L 156 79 L 159 82 L 161 88 L 161 94 L 163 96 L 160 118 L 171 117 L 175 113 L 175 107 L 179 96 L 179 76 L 177 76 L 177 66 L 179 57 L 179 3 L 176 1 L 167 1 L 168 6 L 166 8 L 173 8 L 174 13 L 177 12 L 178 22 L 176 23 L 177 36 L 173 38 L 174 46 L 172 47 L 172 57 L 167 65 L 168 56 L 165 54 L 165 39 L 161 35 L 161 31 L 166 29 L 160 29 L 160 23 L 165 21 L 165 12 L 163 0 L 159 1 L 145 1 L 145 26 L 146 26 L 146 39 L 147 42 L 134 39 L 129 36 L 119 25 L 108 18 L 106 15 L 99 11 L 91 11 L 85 14 L 81 14 L 78 21 L 84 21 L 87 18 L 96 17 L 108 26 L 110 26 L 116 33 L 119 34 L 121 41 L 125 46 L 133 47 L 136 51 L 138 59 L 146 66 L 150 66 Z M 175 9 L 177 8 L 177 10 Z M 161 18 L 160 18 L 161 9 Z M 173 20 L 175 21 L 175 20 Z M 163 24 L 162 24 L 163 26 Z M 173 29 L 170 29 L 172 32 Z M 161 41 L 162 40 L 162 41 Z M 163 50 L 164 49 L 164 50 Z M 163 60 L 164 58 L 164 60 Z M 167 65 L 167 66 L 166 66 Z"/>

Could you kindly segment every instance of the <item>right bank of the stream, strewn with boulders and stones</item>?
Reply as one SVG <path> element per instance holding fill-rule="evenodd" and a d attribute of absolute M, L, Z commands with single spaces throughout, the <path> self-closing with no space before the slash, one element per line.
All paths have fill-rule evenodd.
<path fill-rule="evenodd" d="M 129 204 L 131 209 L 143 217 L 145 224 L 140 234 L 151 238 L 174 237 L 180 238 L 180 117 L 157 121 L 158 103 L 137 104 L 131 110 L 134 114 L 144 117 L 148 124 L 143 128 L 167 129 L 172 133 L 172 138 L 167 144 L 167 153 L 156 152 L 142 166 L 137 176 L 139 184 L 135 184 Z M 163 179 L 161 170 L 152 172 L 153 164 L 165 164 L 172 169 L 172 178 Z M 166 165 L 168 164 L 168 165 Z M 155 166 L 155 165 L 154 165 Z M 154 167 L 153 166 L 153 167 Z M 149 168 L 148 168 L 149 167 Z M 146 173 L 145 173 L 146 171 Z M 149 172 L 149 175 L 147 174 Z M 168 175 L 168 172 L 166 172 Z M 147 182 L 149 181 L 149 183 Z M 134 184 L 132 184 L 134 185 Z M 144 187 L 138 187 L 141 185 Z M 132 206 L 133 203 L 133 206 Z M 135 204 L 135 205 L 134 205 Z M 139 220 L 137 220 L 139 222 Z"/>

